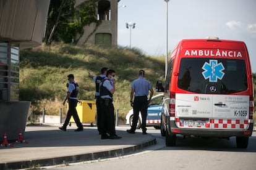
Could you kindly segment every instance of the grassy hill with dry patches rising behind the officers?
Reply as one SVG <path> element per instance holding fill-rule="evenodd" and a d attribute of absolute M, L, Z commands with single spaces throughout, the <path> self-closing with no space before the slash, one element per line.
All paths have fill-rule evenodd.
<path fill-rule="evenodd" d="M 64 114 L 62 101 L 66 96 L 67 75 L 74 74 L 79 83 L 79 100 L 94 100 L 95 84 L 88 73 L 100 75 L 102 67 L 116 71 L 114 107 L 124 119 L 130 110 L 130 84 L 140 69 L 155 87 L 156 80 L 164 79 L 164 56 L 149 57 L 139 49 L 109 49 L 70 44 L 41 45 L 20 52 L 20 100 L 32 101 L 33 114 L 45 108 L 46 115 Z M 157 94 L 157 92 L 155 92 Z"/>

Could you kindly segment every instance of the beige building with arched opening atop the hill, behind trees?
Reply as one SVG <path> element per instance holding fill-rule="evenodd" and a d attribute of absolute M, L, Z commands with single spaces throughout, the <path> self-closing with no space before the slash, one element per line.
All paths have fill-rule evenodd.
<path fill-rule="evenodd" d="M 77 0 L 75 6 L 87 0 Z M 77 42 L 81 44 L 100 44 L 105 46 L 117 46 L 117 7 L 120 0 L 100 0 L 96 2 L 97 19 L 101 21 L 99 26 L 92 23 L 84 26 L 84 34 Z"/>

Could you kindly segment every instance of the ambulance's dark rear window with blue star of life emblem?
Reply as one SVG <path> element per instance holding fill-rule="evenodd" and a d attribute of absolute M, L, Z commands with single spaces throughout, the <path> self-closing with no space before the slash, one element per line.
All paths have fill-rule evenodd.
<path fill-rule="evenodd" d="M 247 89 L 244 60 L 181 59 L 177 86 L 200 94 L 233 94 Z"/>

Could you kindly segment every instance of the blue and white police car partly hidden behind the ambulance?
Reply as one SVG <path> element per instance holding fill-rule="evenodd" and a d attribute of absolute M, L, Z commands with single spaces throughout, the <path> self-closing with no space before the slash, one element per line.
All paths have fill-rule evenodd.
<path fill-rule="evenodd" d="M 147 126 L 154 126 L 156 129 L 160 128 L 161 111 L 163 109 L 164 94 L 154 95 L 148 105 L 147 112 Z M 131 109 L 126 115 L 126 124 L 132 126 L 132 119 L 134 117 L 134 110 Z M 139 115 L 137 129 L 140 129 L 142 124 L 142 115 Z"/>

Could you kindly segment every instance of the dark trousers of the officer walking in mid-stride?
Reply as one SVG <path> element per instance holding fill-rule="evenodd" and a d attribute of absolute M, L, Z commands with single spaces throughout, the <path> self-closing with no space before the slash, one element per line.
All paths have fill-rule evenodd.
<path fill-rule="evenodd" d="M 65 119 L 65 123 L 63 124 L 63 127 L 65 128 L 67 127 L 67 124 L 69 124 L 71 116 L 73 116 L 75 120 L 75 124 L 77 124 L 77 127 L 82 129 L 83 125 L 80 122 L 79 116 L 77 114 L 77 109 L 75 108 L 77 107 L 77 100 L 68 99 L 68 103 L 69 103 L 69 110 L 67 111 L 67 117 Z"/>

